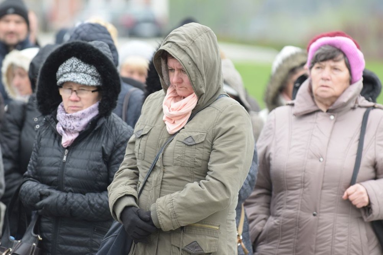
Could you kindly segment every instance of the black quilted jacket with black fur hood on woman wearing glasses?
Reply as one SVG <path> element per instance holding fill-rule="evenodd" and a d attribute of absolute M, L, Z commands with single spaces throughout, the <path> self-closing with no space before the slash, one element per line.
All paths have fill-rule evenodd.
<path fill-rule="evenodd" d="M 112 110 L 119 93 L 119 77 L 105 43 L 97 47 L 74 41 L 57 48 L 44 62 L 38 79 L 37 104 L 45 121 L 33 146 L 20 189 L 22 202 L 37 210 L 41 192 L 50 192 L 40 221 L 43 254 L 95 254 L 112 217 L 107 187 L 121 164 L 132 129 Z M 105 53 L 105 54 L 104 54 Z M 99 115 L 67 148 L 56 131 L 61 96 L 56 85 L 58 67 L 76 57 L 97 68 L 102 77 Z M 46 201 L 46 200 L 43 200 Z"/>

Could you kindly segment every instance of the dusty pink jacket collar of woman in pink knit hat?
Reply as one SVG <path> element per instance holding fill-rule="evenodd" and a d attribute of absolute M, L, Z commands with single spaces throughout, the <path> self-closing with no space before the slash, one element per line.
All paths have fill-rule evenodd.
<path fill-rule="evenodd" d="M 354 84 L 351 84 L 332 104 L 327 112 L 342 112 L 349 110 L 361 100 L 359 95 L 362 91 L 362 79 Z M 293 114 L 296 116 L 321 111 L 314 101 L 311 78 L 307 79 L 298 91 L 294 101 L 288 103 L 294 104 Z"/>

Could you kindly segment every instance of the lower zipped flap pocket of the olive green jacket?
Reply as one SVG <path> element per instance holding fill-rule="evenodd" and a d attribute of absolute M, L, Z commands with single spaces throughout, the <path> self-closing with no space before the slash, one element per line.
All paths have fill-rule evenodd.
<path fill-rule="evenodd" d="M 220 225 L 200 221 L 171 234 L 171 254 L 217 254 Z"/>

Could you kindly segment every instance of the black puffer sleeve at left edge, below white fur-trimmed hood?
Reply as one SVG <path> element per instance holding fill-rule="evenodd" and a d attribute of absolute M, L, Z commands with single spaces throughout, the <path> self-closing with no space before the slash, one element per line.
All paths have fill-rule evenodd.
<path fill-rule="evenodd" d="M 25 104 L 12 101 L 5 113 L 0 133 L 0 142 L 3 152 L 5 193 L 1 201 L 7 205 L 12 194 L 21 184 L 22 174 L 19 165 L 20 134 L 24 122 Z"/>

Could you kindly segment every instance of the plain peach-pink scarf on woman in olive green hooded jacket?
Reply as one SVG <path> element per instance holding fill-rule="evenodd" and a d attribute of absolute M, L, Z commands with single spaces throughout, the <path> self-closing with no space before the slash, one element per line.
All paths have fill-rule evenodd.
<path fill-rule="evenodd" d="M 163 121 L 169 134 L 174 134 L 186 124 L 196 107 L 198 97 L 193 93 L 187 97 L 179 96 L 176 89 L 170 85 L 163 99 Z"/>

